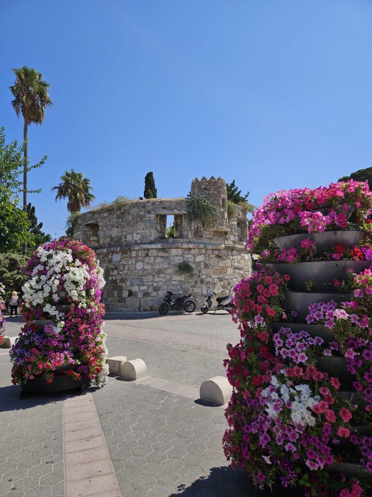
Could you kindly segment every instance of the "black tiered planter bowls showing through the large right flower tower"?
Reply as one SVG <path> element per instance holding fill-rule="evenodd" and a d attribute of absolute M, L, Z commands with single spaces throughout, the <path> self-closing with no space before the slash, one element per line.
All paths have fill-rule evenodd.
<path fill-rule="evenodd" d="M 331 247 L 339 243 L 345 244 L 352 248 L 358 244 L 364 237 L 362 231 L 332 231 L 323 233 L 304 233 L 290 235 L 286 237 L 275 238 L 273 241 L 278 248 L 289 249 L 298 247 L 304 239 L 315 242 L 317 247 L 316 256 L 322 256 L 324 252 L 329 252 Z M 291 315 L 292 311 L 297 312 L 297 316 L 293 318 L 291 323 L 276 322 L 271 323 L 272 331 L 279 331 L 280 328 L 291 328 L 293 331 L 307 331 L 311 336 L 320 336 L 324 340 L 324 346 L 334 340 L 332 332 L 320 325 L 308 325 L 306 316 L 309 314 L 309 305 L 315 302 L 345 302 L 352 299 L 351 293 L 337 292 L 333 286 L 333 280 L 345 280 L 347 270 L 353 269 L 353 272 L 361 272 L 364 269 L 371 267 L 371 261 L 356 261 L 356 260 L 325 260 L 313 262 L 299 262 L 297 264 L 290 263 L 275 263 L 267 264 L 269 271 L 274 274 L 290 274 L 291 279 L 288 282 L 289 291 L 283 302 L 283 307 Z M 312 281 L 311 291 L 307 291 L 308 281 Z M 325 357 L 317 358 L 316 366 L 318 369 L 337 377 L 340 380 L 341 388 L 340 395 L 349 402 L 358 404 L 358 393 L 353 389 L 352 383 L 355 381 L 355 376 L 347 371 L 346 359 L 344 357 Z M 371 425 L 352 426 L 352 431 L 355 433 L 363 433 L 371 436 Z M 349 443 L 350 442 L 343 442 Z M 347 447 L 350 457 L 353 457 L 354 446 L 350 444 Z M 368 472 L 364 466 L 361 466 L 354 458 L 348 463 L 332 466 L 332 471 L 341 472 L 347 476 L 356 476 L 363 479 Z"/>

